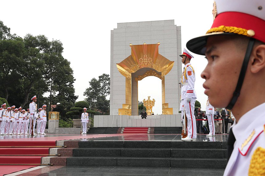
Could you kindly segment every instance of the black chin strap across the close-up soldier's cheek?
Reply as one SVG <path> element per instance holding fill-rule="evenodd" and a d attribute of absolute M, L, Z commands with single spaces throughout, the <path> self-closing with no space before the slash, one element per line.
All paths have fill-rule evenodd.
<path fill-rule="evenodd" d="M 254 44 L 255 44 L 255 39 L 250 38 L 248 45 L 247 45 L 247 51 L 245 54 L 245 58 L 243 60 L 243 64 L 242 64 L 241 71 L 239 74 L 239 78 L 237 81 L 237 85 L 236 85 L 235 91 L 233 93 L 233 97 L 232 97 L 230 103 L 226 107 L 227 109 L 232 109 L 234 107 L 235 102 L 237 101 L 237 98 L 240 95 L 240 90 L 241 90 L 242 84 L 244 82 L 244 78 L 245 78 L 246 71 L 247 71 L 247 65 L 248 65 L 249 58 L 250 58 Z"/>

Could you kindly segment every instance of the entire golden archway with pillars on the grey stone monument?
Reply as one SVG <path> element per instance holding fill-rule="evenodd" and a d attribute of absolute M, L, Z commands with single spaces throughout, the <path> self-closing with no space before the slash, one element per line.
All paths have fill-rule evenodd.
<path fill-rule="evenodd" d="M 162 113 L 173 114 L 173 109 L 168 108 L 168 103 L 165 103 L 165 75 L 167 75 L 173 65 L 174 61 L 168 60 L 158 52 L 157 44 L 142 44 L 132 45 L 131 55 L 124 59 L 122 62 L 117 63 L 118 71 L 126 77 L 126 89 L 125 89 L 125 104 L 122 104 L 122 109 L 118 109 L 122 115 L 131 115 L 131 74 L 135 73 L 141 68 L 152 68 L 153 70 L 147 71 L 139 78 L 135 78 L 135 81 L 143 79 L 146 76 L 156 76 L 162 80 Z M 157 72 L 161 74 L 157 74 Z M 151 74 L 151 75 L 150 75 Z M 137 79 L 137 80 L 136 80 Z"/>

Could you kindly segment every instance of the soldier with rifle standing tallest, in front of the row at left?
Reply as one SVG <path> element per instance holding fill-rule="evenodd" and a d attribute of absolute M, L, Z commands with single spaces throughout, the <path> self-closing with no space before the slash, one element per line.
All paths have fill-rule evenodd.
<path fill-rule="evenodd" d="M 30 135 L 36 135 L 34 133 L 36 118 L 37 118 L 37 97 L 36 95 L 31 98 L 32 102 L 30 103 Z M 33 128 L 33 131 L 31 131 Z"/>

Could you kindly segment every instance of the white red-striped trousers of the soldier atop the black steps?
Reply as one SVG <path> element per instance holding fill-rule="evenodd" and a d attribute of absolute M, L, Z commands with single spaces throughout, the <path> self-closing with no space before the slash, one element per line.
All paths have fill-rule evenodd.
<path fill-rule="evenodd" d="M 194 107 L 195 107 L 195 101 L 196 98 L 191 98 L 191 102 L 186 101 L 186 99 L 183 100 L 185 113 L 187 116 L 187 128 L 188 128 L 188 135 L 187 137 L 195 139 L 197 137 L 197 127 L 196 127 L 196 120 L 194 115 Z"/>

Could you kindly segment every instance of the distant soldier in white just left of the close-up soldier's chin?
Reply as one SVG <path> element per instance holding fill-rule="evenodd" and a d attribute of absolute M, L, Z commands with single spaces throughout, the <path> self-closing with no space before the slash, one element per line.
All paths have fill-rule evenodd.
<path fill-rule="evenodd" d="M 209 97 L 207 99 L 206 103 L 206 112 L 205 112 L 207 119 L 208 119 L 208 124 L 209 124 L 209 129 L 210 132 L 206 136 L 215 136 L 215 122 L 214 122 L 214 114 L 215 110 L 214 107 L 210 104 L 209 102 Z"/>

